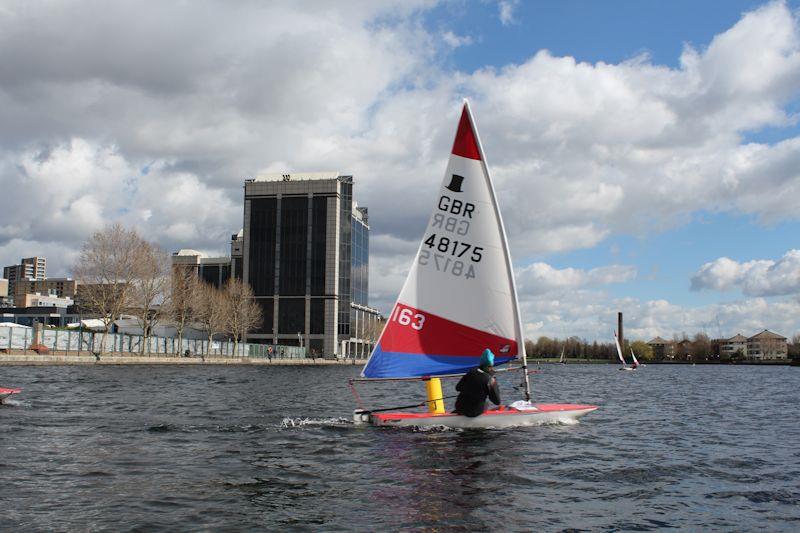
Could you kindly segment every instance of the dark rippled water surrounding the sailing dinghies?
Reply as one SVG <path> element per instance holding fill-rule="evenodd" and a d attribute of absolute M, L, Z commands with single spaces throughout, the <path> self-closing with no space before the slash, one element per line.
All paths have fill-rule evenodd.
<path fill-rule="evenodd" d="M 569 426 L 363 428 L 353 367 L 0 367 L 25 389 L 0 407 L 0 528 L 800 529 L 800 369 L 541 369 L 538 401 L 601 409 Z"/>

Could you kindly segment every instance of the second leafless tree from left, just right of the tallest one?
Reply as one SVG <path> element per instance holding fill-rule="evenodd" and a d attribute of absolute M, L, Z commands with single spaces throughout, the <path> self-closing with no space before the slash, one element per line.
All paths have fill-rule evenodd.
<path fill-rule="evenodd" d="M 140 353 L 144 354 L 153 328 L 167 314 L 170 259 L 158 245 L 141 241 L 135 250 L 134 276 L 128 291 L 128 308 L 142 326 Z"/>

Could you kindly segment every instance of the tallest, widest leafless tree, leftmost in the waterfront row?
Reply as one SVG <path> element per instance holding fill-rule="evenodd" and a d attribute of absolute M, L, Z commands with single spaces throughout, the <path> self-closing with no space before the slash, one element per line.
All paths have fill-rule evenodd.
<path fill-rule="evenodd" d="M 108 330 L 124 312 L 140 248 L 146 244 L 134 230 L 113 224 L 96 232 L 84 244 L 72 272 L 79 283 L 78 305 L 103 323 L 99 351 Z"/>

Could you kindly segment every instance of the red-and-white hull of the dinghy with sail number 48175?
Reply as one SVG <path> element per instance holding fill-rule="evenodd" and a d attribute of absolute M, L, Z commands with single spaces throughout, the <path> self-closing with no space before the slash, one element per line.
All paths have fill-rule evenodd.
<path fill-rule="evenodd" d="M 447 427 L 447 428 L 512 428 L 550 423 L 569 423 L 597 409 L 596 405 L 534 404 L 535 409 L 518 410 L 500 407 L 481 416 L 468 417 L 455 413 L 369 413 L 356 410 L 356 424 L 389 427 Z"/>

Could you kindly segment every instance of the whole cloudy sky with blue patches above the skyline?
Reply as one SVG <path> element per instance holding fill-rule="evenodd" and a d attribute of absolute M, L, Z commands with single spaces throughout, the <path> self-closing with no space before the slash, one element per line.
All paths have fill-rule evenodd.
<path fill-rule="evenodd" d="M 0 261 L 110 222 L 226 253 L 339 171 L 388 312 L 469 98 L 525 333 L 800 333 L 800 2 L 0 3 Z"/>

